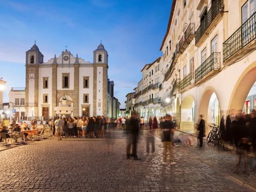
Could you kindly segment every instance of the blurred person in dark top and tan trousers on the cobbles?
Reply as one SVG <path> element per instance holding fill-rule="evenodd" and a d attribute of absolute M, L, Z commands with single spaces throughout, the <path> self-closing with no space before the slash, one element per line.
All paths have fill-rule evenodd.
<path fill-rule="evenodd" d="M 163 164 L 166 164 L 166 154 L 169 151 L 169 161 L 171 165 L 177 164 L 173 161 L 173 141 L 174 141 L 174 125 L 173 125 L 173 117 L 169 114 L 166 114 L 166 117 L 163 122 Z"/>

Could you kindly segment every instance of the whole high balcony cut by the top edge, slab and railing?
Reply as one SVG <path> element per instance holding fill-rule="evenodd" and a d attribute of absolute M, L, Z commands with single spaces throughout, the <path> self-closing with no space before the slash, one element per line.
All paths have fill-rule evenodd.
<path fill-rule="evenodd" d="M 223 15 L 223 0 L 213 1 L 211 8 L 205 15 L 204 19 L 201 20 L 200 26 L 195 31 L 195 44 L 199 46 L 203 43 L 203 40 L 207 38 L 210 31 L 215 27 L 215 25 L 220 21 Z"/>

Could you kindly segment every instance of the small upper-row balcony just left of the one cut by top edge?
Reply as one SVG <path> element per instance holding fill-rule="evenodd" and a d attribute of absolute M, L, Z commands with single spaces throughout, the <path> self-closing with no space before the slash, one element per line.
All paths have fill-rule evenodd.
<path fill-rule="evenodd" d="M 190 23 L 178 44 L 178 52 L 182 54 L 195 36 L 195 23 Z"/>

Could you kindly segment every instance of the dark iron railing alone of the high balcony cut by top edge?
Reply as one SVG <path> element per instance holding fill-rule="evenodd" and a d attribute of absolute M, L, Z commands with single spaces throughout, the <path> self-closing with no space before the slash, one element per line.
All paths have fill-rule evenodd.
<path fill-rule="evenodd" d="M 195 44 L 198 43 L 207 28 L 211 25 L 211 22 L 215 19 L 216 15 L 218 15 L 218 13 L 223 9 L 223 0 L 215 0 L 212 2 L 213 3 L 207 12 L 207 15 L 205 15 L 205 18 L 201 21 L 197 31 L 195 31 Z"/>

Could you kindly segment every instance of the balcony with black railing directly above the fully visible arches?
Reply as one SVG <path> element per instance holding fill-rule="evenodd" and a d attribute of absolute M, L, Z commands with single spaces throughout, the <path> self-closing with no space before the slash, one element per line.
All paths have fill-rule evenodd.
<path fill-rule="evenodd" d="M 202 83 L 220 70 L 220 52 L 213 52 L 196 70 L 195 83 Z"/>

